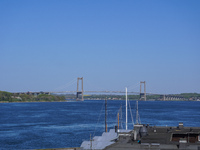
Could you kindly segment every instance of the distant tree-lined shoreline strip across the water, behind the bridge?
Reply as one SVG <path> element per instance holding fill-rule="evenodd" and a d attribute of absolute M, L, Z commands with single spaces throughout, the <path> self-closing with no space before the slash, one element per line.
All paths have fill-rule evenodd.
<path fill-rule="evenodd" d="M 124 100 L 125 95 L 110 95 L 110 94 L 98 94 L 98 95 L 83 95 L 85 100 Z M 0 103 L 8 102 L 65 102 L 74 101 L 76 95 L 71 94 L 54 94 L 49 95 L 41 93 L 34 95 L 32 93 L 10 93 L 6 91 L 0 91 Z M 200 93 L 181 93 L 181 94 L 167 94 L 167 95 L 128 95 L 129 100 L 145 100 L 147 101 L 200 101 Z"/>

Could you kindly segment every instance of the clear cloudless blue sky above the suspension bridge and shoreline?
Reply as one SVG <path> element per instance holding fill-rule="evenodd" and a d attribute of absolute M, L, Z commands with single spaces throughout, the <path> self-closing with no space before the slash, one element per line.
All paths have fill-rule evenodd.
<path fill-rule="evenodd" d="M 52 91 L 83 76 L 85 90 L 139 91 L 146 81 L 147 92 L 200 93 L 199 8 L 199 0 L 1 0 L 0 90 Z"/>

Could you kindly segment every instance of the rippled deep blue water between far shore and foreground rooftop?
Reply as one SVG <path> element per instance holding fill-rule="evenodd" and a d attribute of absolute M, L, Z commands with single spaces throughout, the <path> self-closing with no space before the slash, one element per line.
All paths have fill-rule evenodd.
<path fill-rule="evenodd" d="M 135 101 L 131 101 L 135 121 Z M 117 124 L 125 101 L 108 101 L 108 127 Z M 143 124 L 159 126 L 200 126 L 200 102 L 140 101 Z M 0 149 L 37 149 L 78 147 L 90 134 L 104 131 L 104 101 L 1 103 Z M 132 129 L 129 114 L 129 129 Z M 122 124 L 124 127 L 125 125 Z"/>

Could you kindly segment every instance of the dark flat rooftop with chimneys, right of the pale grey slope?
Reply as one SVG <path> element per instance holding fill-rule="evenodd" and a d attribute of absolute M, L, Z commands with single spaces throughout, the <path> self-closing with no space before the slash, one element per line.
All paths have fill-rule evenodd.
<path fill-rule="evenodd" d="M 130 136 L 119 136 L 104 150 L 200 150 L 200 127 L 135 126 Z"/>

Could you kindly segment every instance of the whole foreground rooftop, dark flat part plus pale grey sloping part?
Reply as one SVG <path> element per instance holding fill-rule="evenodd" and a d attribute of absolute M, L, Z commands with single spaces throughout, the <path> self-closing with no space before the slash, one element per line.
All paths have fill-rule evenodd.
<path fill-rule="evenodd" d="M 81 150 L 200 150 L 200 127 L 135 124 L 133 130 L 114 130 L 84 141 Z"/>

